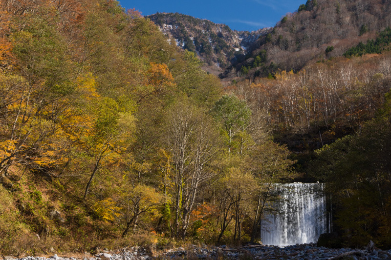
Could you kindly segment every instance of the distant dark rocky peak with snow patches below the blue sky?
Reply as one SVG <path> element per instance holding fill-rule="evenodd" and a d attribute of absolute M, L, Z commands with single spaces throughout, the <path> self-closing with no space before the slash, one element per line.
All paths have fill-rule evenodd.
<path fill-rule="evenodd" d="M 236 63 L 246 54 L 247 47 L 269 30 L 238 32 L 225 24 L 178 13 L 157 13 L 147 18 L 177 46 L 195 52 L 205 62 L 205 70 L 215 75 Z"/>

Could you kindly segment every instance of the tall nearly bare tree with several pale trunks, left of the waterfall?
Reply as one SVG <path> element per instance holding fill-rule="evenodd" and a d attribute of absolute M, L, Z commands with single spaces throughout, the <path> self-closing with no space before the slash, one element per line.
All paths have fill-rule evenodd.
<path fill-rule="evenodd" d="M 200 186 L 215 174 L 211 166 L 218 153 L 218 136 L 205 112 L 186 100 L 172 108 L 168 122 L 168 142 L 175 165 L 176 234 L 184 239 Z"/>

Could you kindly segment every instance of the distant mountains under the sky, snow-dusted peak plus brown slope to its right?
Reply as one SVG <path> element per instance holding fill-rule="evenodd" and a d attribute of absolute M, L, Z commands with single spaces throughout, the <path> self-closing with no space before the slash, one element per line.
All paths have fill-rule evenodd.
<path fill-rule="evenodd" d="M 178 13 L 147 18 L 178 46 L 195 52 L 205 62 L 204 70 L 231 81 L 267 77 L 278 69 L 299 71 L 309 63 L 342 56 L 350 47 L 373 40 L 391 26 L 390 6 L 390 0 L 307 0 L 274 27 L 252 32 Z M 197 32 L 199 25 L 193 26 L 200 22 L 209 27 L 204 30 L 212 36 L 220 28 L 222 37 L 202 38 L 204 32 Z M 194 40 L 197 37 L 203 41 Z"/>

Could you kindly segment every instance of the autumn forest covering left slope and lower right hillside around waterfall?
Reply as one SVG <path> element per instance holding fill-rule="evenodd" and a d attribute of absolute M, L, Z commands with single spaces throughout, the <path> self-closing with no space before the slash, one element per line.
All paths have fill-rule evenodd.
<path fill-rule="evenodd" d="M 2 254 L 254 241 L 299 178 L 341 181 L 347 245 L 391 245 L 387 51 L 223 88 L 116 0 L 0 8 Z"/>

